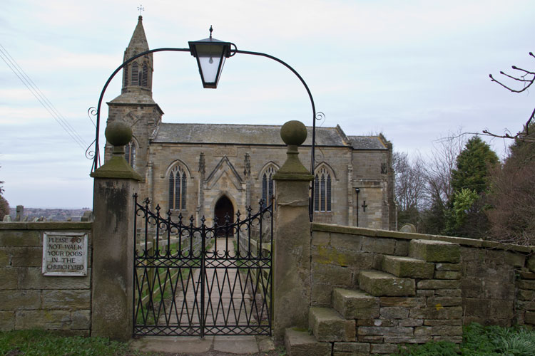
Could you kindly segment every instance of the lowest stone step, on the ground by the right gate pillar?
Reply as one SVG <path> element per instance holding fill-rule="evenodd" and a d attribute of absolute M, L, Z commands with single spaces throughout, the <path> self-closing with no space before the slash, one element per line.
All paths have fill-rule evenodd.
<path fill-rule="evenodd" d="M 330 342 L 320 342 L 307 331 L 286 329 L 284 343 L 288 356 L 330 356 Z"/>

